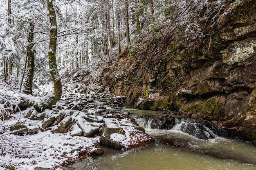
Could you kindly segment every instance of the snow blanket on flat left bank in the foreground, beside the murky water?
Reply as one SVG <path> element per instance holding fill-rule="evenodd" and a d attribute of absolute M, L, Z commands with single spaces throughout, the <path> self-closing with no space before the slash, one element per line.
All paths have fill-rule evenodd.
<path fill-rule="evenodd" d="M 77 159 L 80 152 L 96 149 L 94 146 L 99 142 L 99 137 L 71 137 L 68 133 L 52 134 L 51 131 L 39 131 L 38 134 L 25 137 L 9 134 L 7 137 L 18 141 L 20 146 L 22 143 L 27 146 L 26 150 L 22 151 L 22 154 L 27 153 L 25 157 L 15 157 L 11 154 L 0 156 L 0 165 L 8 162 L 18 170 L 34 170 L 37 167 L 56 168 L 68 160 L 63 155 Z"/>

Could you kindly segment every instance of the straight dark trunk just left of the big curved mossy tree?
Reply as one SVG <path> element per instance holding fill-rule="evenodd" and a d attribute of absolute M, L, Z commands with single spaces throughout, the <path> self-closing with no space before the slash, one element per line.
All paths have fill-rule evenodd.
<path fill-rule="evenodd" d="M 34 77 L 34 67 L 35 67 L 35 51 L 33 50 L 34 46 L 34 23 L 30 23 L 30 32 L 27 37 L 29 45 L 27 46 L 27 75 L 24 82 L 24 93 L 31 94 L 32 93 L 32 83 Z"/>

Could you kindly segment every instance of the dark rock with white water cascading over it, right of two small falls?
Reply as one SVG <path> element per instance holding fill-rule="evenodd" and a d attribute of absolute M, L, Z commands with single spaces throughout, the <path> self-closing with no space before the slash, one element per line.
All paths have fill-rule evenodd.
<path fill-rule="evenodd" d="M 175 120 L 175 123 L 176 123 L 176 120 Z M 177 124 L 175 124 L 175 126 L 173 126 L 173 130 L 182 131 L 189 135 L 193 135 L 199 139 L 213 139 L 214 137 L 218 137 L 207 126 L 205 126 L 199 122 L 196 122 L 193 119 L 184 119 L 183 118 L 183 119 L 177 121 Z"/>

